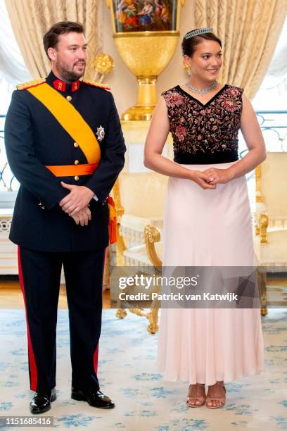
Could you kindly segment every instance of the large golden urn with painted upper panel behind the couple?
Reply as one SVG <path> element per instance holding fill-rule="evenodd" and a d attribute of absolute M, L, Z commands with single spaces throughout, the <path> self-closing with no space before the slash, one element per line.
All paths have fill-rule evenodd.
<path fill-rule="evenodd" d="M 117 49 L 139 84 L 136 105 L 122 120 L 151 120 L 155 83 L 177 46 L 184 0 L 107 0 L 107 5 Z"/>

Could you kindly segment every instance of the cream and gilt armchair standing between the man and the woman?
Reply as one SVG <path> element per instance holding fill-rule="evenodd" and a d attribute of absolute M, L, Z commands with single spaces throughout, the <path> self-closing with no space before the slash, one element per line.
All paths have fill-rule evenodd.
<path fill-rule="evenodd" d="M 163 206 L 167 177 L 154 172 L 121 173 L 113 196 L 117 209 L 117 266 L 146 268 L 156 272 L 162 266 Z M 129 311 L 149 320 L 148 331 L 158 330 L 158 302 L 146 313 L 144 308 Z M 124 318 L 124 308 L 117 310 L 117 317 Z"/>

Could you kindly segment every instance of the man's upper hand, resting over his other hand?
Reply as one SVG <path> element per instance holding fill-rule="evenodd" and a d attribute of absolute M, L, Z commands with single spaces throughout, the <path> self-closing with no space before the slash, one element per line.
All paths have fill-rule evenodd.
<path fill-rule="evenodd" d="M 63 211 L 69 215 L 76 215 L 79 211 L 88 206 L 89 201 L 94 197 L 94 192 L 88 187 L 70 185 L 63 181 L 61 181 L 60 184 L 65 187 L 65 189 L 70 190 L 70 193 L 65 196 L 59 204 Z"/>

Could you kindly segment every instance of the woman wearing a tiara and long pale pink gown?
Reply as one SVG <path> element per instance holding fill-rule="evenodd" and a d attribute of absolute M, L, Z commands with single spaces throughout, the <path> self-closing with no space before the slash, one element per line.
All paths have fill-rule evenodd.
<path fill-rule="evenodd" d="M 162 93 L 145 147 L 146 167 L 170 177 L 162 264 L 253 266 L 245 174 L 266 157 L 260 126 L 243 89 L 216 81 L 222 43 L 212 29 L 187 33 L 182 49 L 189 82 Z M 174 161 L 162 156 L 169 132 Z M 188 406 L 224 406 L 224 382 L 264 370 L 260 309 L 162 308 L 158 370 L 189 381 Z"/>

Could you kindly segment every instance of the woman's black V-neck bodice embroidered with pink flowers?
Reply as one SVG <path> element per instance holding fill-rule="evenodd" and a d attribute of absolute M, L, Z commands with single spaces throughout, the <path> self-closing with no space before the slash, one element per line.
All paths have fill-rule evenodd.
<path fill-rule="evenodd" d="M 224 85 L 202 104 L 179 85 L 162 93 L 167 104 L 177 163 L 238 160 L 243 89 Z"/>

